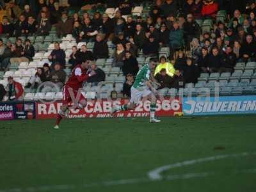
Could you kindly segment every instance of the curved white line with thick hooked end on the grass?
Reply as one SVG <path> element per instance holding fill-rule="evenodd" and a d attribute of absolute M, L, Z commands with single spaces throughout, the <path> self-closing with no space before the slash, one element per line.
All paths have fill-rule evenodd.
<path fill-rule="evenodd" d="M 218 159 L 253 156 L 253 155 L 256 155 L 256 152 L 253 152 L 253 153 L 243 152 L 241 154 L 226 154 L 226 155 L 220 155 L 220 156 L 211 156 L 211 157 L 205 157 L 200 159 L 193 159 L 189 161 L 182 161 L 174 164 L 167 164 L 148 172 L 148 177 L 151 180 L 162 180 L 163 177 L 161 176 L 161 173 L 166 172 L 167 170 L 171 170 L 173 168 L 178 168 L 178 167 L 191 165 L 191 164 L 204 163 L 208 161 L 216 161 Z"/>

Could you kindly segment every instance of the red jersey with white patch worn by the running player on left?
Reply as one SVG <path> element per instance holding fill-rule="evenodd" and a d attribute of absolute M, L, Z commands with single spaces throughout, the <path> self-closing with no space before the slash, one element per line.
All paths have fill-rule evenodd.
<path fill-rule="evenodd" d="M 65 86 L 72 88 L 73 90 L 78 90 L 83 86 L 83 82 L 87 81 L 89 78 L 87 74 L 87 69 L 83 69 L 81 65 L 77 65 L 73 70 L 72 74 L 69 77 Z"/>

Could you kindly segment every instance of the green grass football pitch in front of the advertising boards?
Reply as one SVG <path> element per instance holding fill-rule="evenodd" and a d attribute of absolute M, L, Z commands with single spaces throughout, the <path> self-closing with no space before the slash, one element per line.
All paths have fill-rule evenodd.
<path fill-rule="evenodd" d="M 0 192 L 256 191 L 255 115 L 161 120 L 67 119 L 60 130 L 54 120 L 0 122 Z"/>

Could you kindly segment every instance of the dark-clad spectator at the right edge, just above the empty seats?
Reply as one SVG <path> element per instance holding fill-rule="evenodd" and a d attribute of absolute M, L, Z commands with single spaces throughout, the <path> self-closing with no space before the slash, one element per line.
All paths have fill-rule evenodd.
<path fill-rule="evenodd" d="M 240 55 L 243 61 L 255 60 L 255 42 L 253 42 L 252 35 L 246 36 L 246 41 L 241 45 Z"/>

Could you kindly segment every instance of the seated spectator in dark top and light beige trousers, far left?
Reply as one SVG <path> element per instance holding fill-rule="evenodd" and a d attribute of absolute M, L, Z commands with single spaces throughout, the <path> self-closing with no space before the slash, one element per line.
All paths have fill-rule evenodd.
<path fill-rule="evenodd" d="M 12 45 L 12 48 L 13 55 L 10 59 L 11 65 L 13 63 L 29 62 L 28 58 L 24 55 L 24 47 L 20 38 L 17 39 L 16 45 Z"/>

